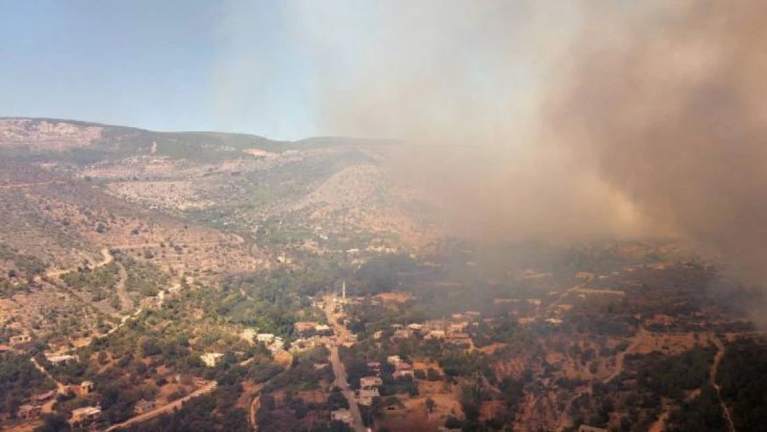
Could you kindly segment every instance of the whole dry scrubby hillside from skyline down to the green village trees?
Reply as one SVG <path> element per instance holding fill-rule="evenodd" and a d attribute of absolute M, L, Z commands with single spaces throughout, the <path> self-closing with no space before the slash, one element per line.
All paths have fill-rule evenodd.
<path fill-rule="evenodd" d="M 95 315 L 68 335 L 83 337 L 98 333 L 97 317 L 189 283 L 420 241 L 427 226 L 411 217 L 413 196 L 393 181 L 384 143 L 2 119 L 0 309 L 21 331 L 84 308 L 78 315 Z M 95 272 L 105 251 L 116 264 Z M 140 274 L 146 283 L 130 282 Z M 48 313 L 44 298 L 70 306 Z"/>

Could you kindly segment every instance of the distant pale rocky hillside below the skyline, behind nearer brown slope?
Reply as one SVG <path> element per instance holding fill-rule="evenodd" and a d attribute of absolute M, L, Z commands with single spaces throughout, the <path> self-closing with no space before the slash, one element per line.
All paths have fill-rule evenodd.
<path fill-rule="evenodd" d="M 328 236 L 341 239 L 341 248 L 367 247 L 371 238 L 363 232 L 410 245 L 426 241 L 423 232 L 433 233 L 435 221 L 413 209 L 433 206 L 397 184 L 390 160 L 398 144 L 0 119 L 0 156 L 7 160 L 91 182 L 122 203 L 296 247 Z"/>

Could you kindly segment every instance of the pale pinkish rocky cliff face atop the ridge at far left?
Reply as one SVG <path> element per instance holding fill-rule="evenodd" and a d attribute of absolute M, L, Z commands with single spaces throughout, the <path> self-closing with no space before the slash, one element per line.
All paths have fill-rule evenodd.
<path fill-rule="evenodd" d="M 0 119 L 0 147 L 61 151 L 89 147 L 103 127 L 37 119 Z"/>

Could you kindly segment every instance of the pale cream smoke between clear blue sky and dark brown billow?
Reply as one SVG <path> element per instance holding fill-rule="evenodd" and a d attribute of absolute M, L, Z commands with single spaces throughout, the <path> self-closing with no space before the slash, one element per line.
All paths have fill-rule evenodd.
<path fill-rule="evenodd" d="M 581 11 L 561 2 L 304 2 L 286 11 L 314 58 L 331 134 L 396 137 L 394 170 L 490 238 L 637 225 L 620 193 L 541 142 L 540 110 Z"/>

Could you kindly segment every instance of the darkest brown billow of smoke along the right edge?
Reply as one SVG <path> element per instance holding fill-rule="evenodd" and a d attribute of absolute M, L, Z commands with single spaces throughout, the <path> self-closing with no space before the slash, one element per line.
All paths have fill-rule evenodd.
<path fill-rule="evenodd" d="M 765 16 L 759 0 L 591 11 L 548 106 L 571 160 L 753 282 L 767 282 Z"/>

